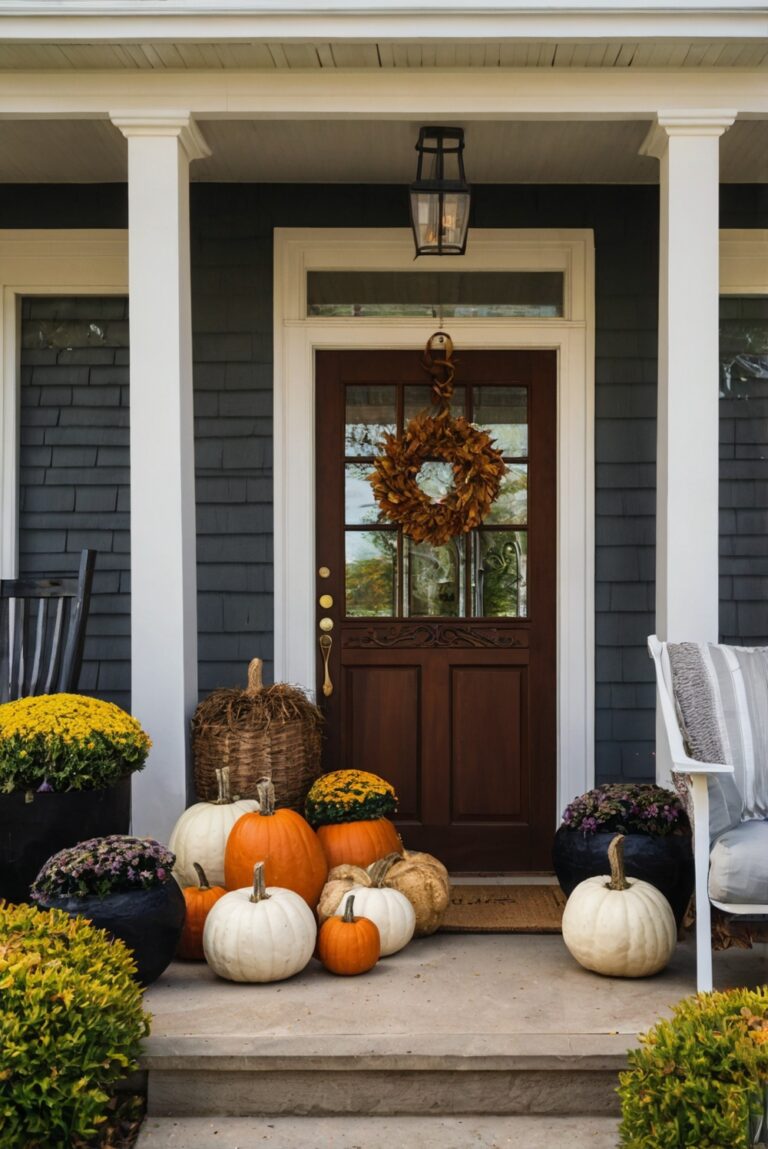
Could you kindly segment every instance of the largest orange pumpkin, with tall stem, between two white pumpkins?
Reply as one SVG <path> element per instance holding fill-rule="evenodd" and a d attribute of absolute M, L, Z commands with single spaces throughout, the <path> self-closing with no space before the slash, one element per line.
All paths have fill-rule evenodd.
<path fill-rule="evenodd" d="M 235 823 L 224 850 L 228 889 L 251 886 L 256 862 L 264 863 L 267 886 L 292 889 L 314 912 L 328 877 L 328 862 L 317 834 L 295 810 L 275 809 L 275 787 L 259 784 L 261 809 Z"/>

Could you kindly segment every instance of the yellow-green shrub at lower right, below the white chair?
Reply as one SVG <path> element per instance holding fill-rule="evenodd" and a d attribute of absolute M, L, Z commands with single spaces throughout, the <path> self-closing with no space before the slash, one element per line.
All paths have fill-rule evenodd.
<path fill-rule="evenodd" d="M 686 997 L 640 1041 L 620 1074 L 620 1144 L 747 1149 L 768 1082 L 768 987 Z"/>

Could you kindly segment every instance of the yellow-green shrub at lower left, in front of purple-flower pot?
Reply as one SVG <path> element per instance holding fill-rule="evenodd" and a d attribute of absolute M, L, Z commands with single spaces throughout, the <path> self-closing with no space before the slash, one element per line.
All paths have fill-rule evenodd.
<path fill-rule="evenodd" d="M 64 1149 L 98 1133 L 148 1033 L 135 969 L 84 918 L 0 902 L 0 1146 Z"/>

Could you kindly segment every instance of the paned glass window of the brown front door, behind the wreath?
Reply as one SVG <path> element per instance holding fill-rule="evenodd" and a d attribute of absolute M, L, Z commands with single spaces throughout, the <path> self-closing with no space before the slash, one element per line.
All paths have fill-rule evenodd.
<path fill-rule="evenodd" d="M 524 618 L 528 615 L 527 386 L 454 387 L 452 415 L 487 431 L 502 453 L 501 491 L 483 525 L 444 546 L 414 542 L 383 520 L 369 483 L 385 432 L 429 409 L 429 384 L 347 384 L 345 390 L 345 596 L 347 617 Z M 427 462 L 418 484 L 439 501 L 450 464 Z"/>

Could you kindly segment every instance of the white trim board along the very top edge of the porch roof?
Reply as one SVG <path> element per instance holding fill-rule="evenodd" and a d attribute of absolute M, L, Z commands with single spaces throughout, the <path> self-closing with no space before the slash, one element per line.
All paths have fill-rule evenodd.
<path fill-rule="evenodd" d="M 765 0 L 619 5 L 615 0 L 13 0 L 0 6 L 6 41 L 238 40 L 742 40 L 768 36 Z"/>

